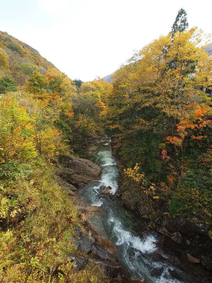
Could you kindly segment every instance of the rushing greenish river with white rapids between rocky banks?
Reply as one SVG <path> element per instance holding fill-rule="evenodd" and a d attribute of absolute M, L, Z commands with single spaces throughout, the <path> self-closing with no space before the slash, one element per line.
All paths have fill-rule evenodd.
<path fill-rule="evenodd" d="M 167 257 L 163 245 L 158 242 L 158 234 L 150 230 L 147 235 L 142 233 L 142 228 L 148 230 L 144 222 L 123 208 L 113 196 L 118 189 L 119 172 L 110 142 L 95 152 L 92 161 L 101 166 L 101 179 L 82 187 L 79 195 L 87 205 L 103 207 L 102 213 L 91 220 L 105 237 L 118 246 L 117 259 L 125 264 L 131 277 L 145 279 L 147 283 L 196 282 L 191 272 Z M 112 187 L 111 195 L 101 194 L 104 186 Z"/>

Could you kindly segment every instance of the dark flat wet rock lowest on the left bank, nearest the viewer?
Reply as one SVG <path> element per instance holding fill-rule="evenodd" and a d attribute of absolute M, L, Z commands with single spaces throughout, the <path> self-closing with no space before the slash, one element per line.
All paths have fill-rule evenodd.
<path fill-rule="evenodd" d="M 118 276 L 126 276 L 130 278 L 130 274 L 120 264 L 116 264 L 107 259 L 93 259 L 93 263 L 100 265 L 102 272 L 105 276 L 115 278 Z"/>

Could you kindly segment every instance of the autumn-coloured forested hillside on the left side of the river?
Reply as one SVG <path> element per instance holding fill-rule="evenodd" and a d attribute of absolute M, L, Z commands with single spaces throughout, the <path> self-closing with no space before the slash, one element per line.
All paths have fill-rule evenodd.
<path fill-rule="evenodd" d="M 59 155 L 77 158 L 104 136 L 101 113 L 111 85 L 102 79 L 76 87 L 4 32 L 0 47 L 0 281 L 102 282 L 96 266 L 70 273 L 72 264 L 64 264 L 78 252 L 74 225 L 84 222 L 54 172 Z"/>

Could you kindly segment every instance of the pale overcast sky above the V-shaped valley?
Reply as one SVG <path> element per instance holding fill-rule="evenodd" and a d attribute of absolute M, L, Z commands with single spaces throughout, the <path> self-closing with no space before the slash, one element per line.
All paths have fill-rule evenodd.
<path fill-rule="evenodd" d="M 211 1 L 0 0 L 0 30 L 37 49 L 70 78 L 111 74 L 161 34 L 178 10 L 189 27 L 212 32 Z M 201 6 L 202 5 L 202 6 Z"/>

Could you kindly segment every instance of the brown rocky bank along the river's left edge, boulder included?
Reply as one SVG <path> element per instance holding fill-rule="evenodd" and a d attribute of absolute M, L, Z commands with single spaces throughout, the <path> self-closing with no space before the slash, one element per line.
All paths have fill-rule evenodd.
<path fill-rule="evenodd" d="M 117 282 L 134 282 L 134 280 L 131 280 L 126 267 L 115 256 L 117 247 L 105 238 L 90 220 L 92 215 L 101 213 L 102 208 L 97 206 L 86 207 L 84 202 L 76 196 L 78 187 L 98 180 L 100 174 L 101 168 L 90 160 L 70 155 L 60 155 L 58 158 L 55 180 L 63 189 L 67 190 L 67 194 L 77 208 L 78 216 L 82 220 L 82 227 L 75 226 L 74 236 L 72 237 L 72 244 L 82 254 L 67 254 L 67 262 L 72 262 L 74 271 L 80 271 L 89 264 L 95 264 L 100 266 L 105 277 L 118 278 Z"/>

